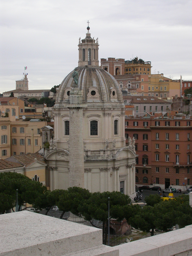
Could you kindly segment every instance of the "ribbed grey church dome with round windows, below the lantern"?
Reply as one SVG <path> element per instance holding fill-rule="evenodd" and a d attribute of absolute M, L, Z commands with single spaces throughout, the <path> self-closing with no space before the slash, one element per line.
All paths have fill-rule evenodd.
<path fill-rule="evenodd" d="M 79 89 L 82 91 L 82 99 L 86 102 L 120 102 L 123 97 L 116 79 L 100 67 L 77 67 L 79 74 Z M 68 99 L 74 79 L 71 71 L 61 82 L 57 93 L 56 102 Z"/>

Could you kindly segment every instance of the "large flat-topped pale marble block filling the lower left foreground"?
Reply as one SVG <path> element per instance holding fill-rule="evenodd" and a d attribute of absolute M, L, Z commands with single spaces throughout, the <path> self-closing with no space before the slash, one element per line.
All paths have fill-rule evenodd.
<path fill-rule="evenodd" d="M 83 251 L 93 255 L 92 249 L 94 255 L 106 251 L 103 256 L 118 256 L 115 248 L 101 249 L 102 230 L 94 227 L 29 211 L 0 215 L 0 226 L 0 256 L 81 255 L 78 252 Z"/>

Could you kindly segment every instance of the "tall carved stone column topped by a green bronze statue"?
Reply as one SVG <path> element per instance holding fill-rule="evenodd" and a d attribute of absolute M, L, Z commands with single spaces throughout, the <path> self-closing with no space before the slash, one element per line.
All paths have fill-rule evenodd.
<path fill-rule="evenodd" d="M 84 188 L 84 146 L 82 92 L 78 86 L 78 72 L 72 75 L 74 85 L 69 96 L 69 187 Z"/>

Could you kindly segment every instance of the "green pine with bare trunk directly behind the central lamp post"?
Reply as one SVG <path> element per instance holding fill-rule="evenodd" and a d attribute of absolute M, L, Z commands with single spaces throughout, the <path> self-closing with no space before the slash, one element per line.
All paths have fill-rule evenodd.
<path fill-rule="evenodd" d="M 117 191 L 91 193 L 90 198 L 78 208 L 80 216 L 87 221 L 97 219 L 103 222 L 103 244 L 106 244 L 108 233 L 108 197 L 110 197 L 110 218 L 119 221 L 124 219 L 123 207 L 130 203 L 131 199 Z"/>

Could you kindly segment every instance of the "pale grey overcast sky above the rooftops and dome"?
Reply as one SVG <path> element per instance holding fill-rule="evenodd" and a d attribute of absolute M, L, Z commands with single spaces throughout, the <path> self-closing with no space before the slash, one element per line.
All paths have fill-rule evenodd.
<path fill-rule="evenodd" d="M 192 79 L 192 0 L 0 0 L 0 93 L 27 66 L 29 89 L 50 89 L 78 66 L 79 37 L 101 58 L 151 61 L 173 79 Z"/>

